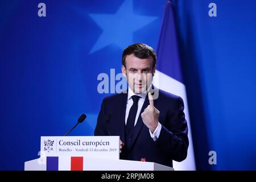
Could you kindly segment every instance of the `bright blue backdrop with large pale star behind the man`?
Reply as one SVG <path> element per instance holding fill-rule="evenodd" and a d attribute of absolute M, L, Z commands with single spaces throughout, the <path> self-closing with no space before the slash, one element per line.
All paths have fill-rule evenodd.
<path fill-rule="evenodd" d="M 38 16 L 46 3 L 47 16 Z M 256 169 L 256 2 L 174 1 L 197 169 Z M 38 158 L 40 136 L 93 135 L 100 73 L 122 49 L 157 48 L 166 1 L 0 2 L 0 169 Z M 210 166 L 208 152 L 217 152 Z"/>

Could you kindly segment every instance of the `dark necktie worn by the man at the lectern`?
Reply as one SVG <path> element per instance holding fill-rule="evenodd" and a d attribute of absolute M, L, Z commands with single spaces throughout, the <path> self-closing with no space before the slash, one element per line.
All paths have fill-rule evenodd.
<path fill-rule="evenodd" d="M 134 96 L 131 96 L 131 98 L 133 99 L 133 106 L 131 106 L 131 109 L 129 111 L 129 115 L 127 118 L 127 122 L 126 122 L 126 130 L 128 134 L 131 133 L 131 131 L 133 130 L 135 118 L 138 110 L 138 101 L 139 101 L 139 98 L 141 97 L 134 95 Z"/>

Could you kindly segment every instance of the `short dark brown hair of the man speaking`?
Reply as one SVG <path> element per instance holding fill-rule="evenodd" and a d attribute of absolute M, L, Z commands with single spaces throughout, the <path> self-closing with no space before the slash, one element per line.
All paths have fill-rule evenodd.
<path fill-rule="evenodd" d="M 146 59 L 148 56 L 152 56 L 153 61 L 153 67 L 156 65 L 156 53 L 154 49 L 147 44 L 143 43 L 136 43 L 131 46 L 128 46 L 124 51 L 122 55 L 122 65 L 126 67 L 125 59 L 127 55 L 134 54 L 134 56 L 140 58 L 140 59 Z"/>

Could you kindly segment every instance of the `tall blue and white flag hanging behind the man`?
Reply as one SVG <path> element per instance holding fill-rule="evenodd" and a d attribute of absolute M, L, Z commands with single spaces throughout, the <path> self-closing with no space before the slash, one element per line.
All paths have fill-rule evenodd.
<path fill-rule="evenodd" d="M 187 159 L 185 159 L 183 162 L 178 163 L 174 161 L 174 169 L 195 170 L 196 165 L 193 152 L 191 127 L 189 122 L 187 94 L 181 74 L 181 64 L 174 18 L 174 7 L 170 1 L 167 2 L 166 10 L 164 13 L 157 55 L 158 63 L 156 67 L 157 71 L 154 78 L 154 85 L 159 89 L 176 94 L 177 96 L 183 98 L 185 106 L 185 119 L 188 122 L 188 156 Z"/>

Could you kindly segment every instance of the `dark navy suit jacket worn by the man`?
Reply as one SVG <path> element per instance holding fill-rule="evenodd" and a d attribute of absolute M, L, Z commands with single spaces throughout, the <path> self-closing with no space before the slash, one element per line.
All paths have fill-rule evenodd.
<path fill-rule="evenodd" d="M 162 129 L 155 142 L 144 125 L 141 114 L 132 133 L 126 136 L 126 102 L 127 93 L 104 98 L 94 131 L 94 135 L 104 136 L 110 133 L 113 136 L 120 136 L 120 139 L 125 142 L 120 159 L 141 160 L 145 158 L 146 162 L 172 167 L 172 160 L 181 162 L 187 157 L 188 127 L 181 97 L 159 89 L 159 97 L 154 100 L 154 106 L 160 111 L 159 122 Z M 146 97 L 141 113 L 148 105 L 149 101 Z M 106 115 L 109 115 L 109 122 L 105 121 Z"/>

